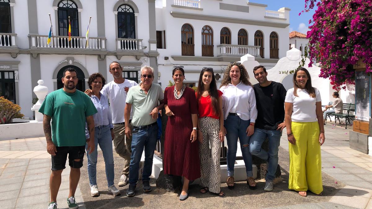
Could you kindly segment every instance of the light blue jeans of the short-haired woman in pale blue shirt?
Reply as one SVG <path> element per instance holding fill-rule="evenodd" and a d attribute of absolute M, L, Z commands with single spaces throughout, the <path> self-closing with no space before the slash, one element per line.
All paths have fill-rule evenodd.
<path fill-rule="evenodd" d="M 94 151 L 90 154 L 87 150 L 89 184 L 97 185 L 97 145 L 102 150 L 105 160 L 107 185 L 114 184 L 114 157 L 112 154 L 112 138 L 109 125 L 94 127 Z M 87 149 L 86 145 L 86 149 Z"/>

